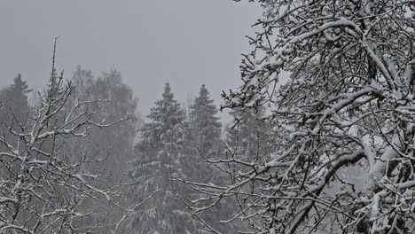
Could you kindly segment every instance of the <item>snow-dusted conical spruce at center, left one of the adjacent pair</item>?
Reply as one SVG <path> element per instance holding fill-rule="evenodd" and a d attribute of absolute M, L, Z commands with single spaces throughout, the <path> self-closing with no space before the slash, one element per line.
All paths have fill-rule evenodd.
<path fill-rule="evenodd" d="M 142 140 L 137 144 L 138 159 L 131 175 L 138 186 L 133 194 L 145 199 L 153 191 L 153 199 L 144 205 L 130 228 L 139 233 L 198 233 L 197 222 L 185 211 L 184 204 L 174 194 L 170 179 L 181 176 L 183 157 L 185 114 L 176 101 L 169 83 L 164 86 L 162 99 L 155 102 L 147 116 L 150 122 L 142 129 Z"/>

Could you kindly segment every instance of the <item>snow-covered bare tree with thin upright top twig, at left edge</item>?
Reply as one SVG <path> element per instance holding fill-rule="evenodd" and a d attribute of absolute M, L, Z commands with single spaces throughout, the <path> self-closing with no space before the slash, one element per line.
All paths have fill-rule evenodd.
<path fill-rule="evenodd" d="M 107 185 L 106 175 L 88 170 L 106 155 L 93 160 L 73 155 L 67 142 L 123 120 L 97 120 L 99 104 L 106 100 L 90 99 L 75 88 L 53 72 L 49 89 L 39 93 L 39 106 L 27 121 L 13 115 L 11 124 L 1 127 L 0 233 L 115 233 L 141 205 L 121 207 L 125 215 L 119 222 L 90 222 L 96 215 L 94 203 L 106 200 L 119 206 L 121 191 Z M 68 105 L 71 97 L 74 102 Z"/>

